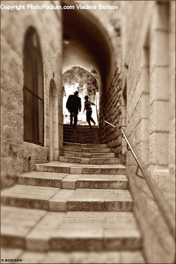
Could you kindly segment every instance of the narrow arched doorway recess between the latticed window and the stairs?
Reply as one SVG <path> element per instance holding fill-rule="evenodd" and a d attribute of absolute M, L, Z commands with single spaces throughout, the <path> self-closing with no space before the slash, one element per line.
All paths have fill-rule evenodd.
<path fill-rule="evenodd" d="M 50 161 L 58 160 L 58 100 L 53 79 L 49 84 L 49 147 Z"/>

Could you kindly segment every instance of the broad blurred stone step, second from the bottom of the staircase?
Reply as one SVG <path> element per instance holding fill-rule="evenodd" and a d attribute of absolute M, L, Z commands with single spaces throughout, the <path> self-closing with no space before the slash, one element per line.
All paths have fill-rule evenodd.
<path fill-rule="evenodd" d="M 30 251 L 30 254 L 35 251 L 34 261 L 25 261 L 24 256 L 24 263 L 47 263 L 48 260 L 49 263 L 89 263 L 89 251 L 96 250 L 94 257 L 103 251 L 102 257 L 107 252 L 112 254 L 112 251 L 120 251 L 121 254 L 126 251 L 128 256 L 127 251 L 141 250 L 141 233 L 132 212 L 47 212 L 2 206 L 1 213 L 1 245 L 24 249 Z M 53 262 L 52 258 L 37 262 L 37 257 L 41 256 L 42 252 L 47 254 L 47 251 L 57 251 L 54 252 L 57 254 L 60 251 L 62 258 L 64 251 L 67 251 L 68 256 L 71 251 L 71 254 L 73 251 L 86 251 L 86 258 L 85 261 L 79 258 L 75 262 L 73 259 L 62 261 L 60 258 L 56 262 Z M 77 252 L 79 257 L 80 253 Z M 94 261 L 90 263 L 106 263 L 103 259 L 96 262 L 97 260 L 92 258 Z M 127 261 L 127 258 L 125 260 Z M 141 255 L 136 262 L 128 260 L 130 261 L 124 263 L 142 262 Z M 115 262 L 107 263 L 123 262 L 117 258 Z"/>

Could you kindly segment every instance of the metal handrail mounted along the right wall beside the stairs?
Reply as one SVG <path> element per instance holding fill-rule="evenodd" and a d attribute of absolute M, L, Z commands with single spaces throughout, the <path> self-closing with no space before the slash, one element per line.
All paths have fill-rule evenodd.
<path fill-rule="evenodd" d="M 115 127 L 114 125 L 110 124 L 109 122 L 107 122 L 105 120 L 104 120 L 104 122 Z M 163 218 L 164 218 L 164 220 L 165 220 L 165 222 L 166 222 L 166 224 L 170 230 L 170 233 L 175 240 L 175 216 L 174 216 L 172 210 L 170 209 L 170 205 L 166 201 L 163 193 L 160 191 L 160 189 L 156 185 L 156 182 L 151 177 L 150 172 L 147 170 L 146 165 L 143 163 L 143 161 L 139 157 L 138 153 L 134 149 L 134 146 L 130 143 L 129 137 L 127 136 L 127 134 L 125 133 L 125 131 L 123 129 L 121 129 L 121 130 L 123 133 L 122 136 L 124 136 L 125 140 L 127 141 L 127 145 L 129 146 L 129 148 L 130 148 L 130 150 L 131 150 L 131 152 L 132 152 L 132 154 L 133 154 L 133 156 L 134 156 L 134 158 L 135 158 L 135 160 L 139 166 L 139 169 L 141 170 L 141 173 L 142 173 L 144 179 L 146 180 L 146 183 L 147 183 L 149 189 L 151 190 L 151 193 L 154 197 L 154 200 L 155 200 L 156 204 L 158 205 L 158 208 L 160 209 L 161 214 L 163 215 Z M 138 167 L 137 167 L 137 170 L 138 170 Z"/>

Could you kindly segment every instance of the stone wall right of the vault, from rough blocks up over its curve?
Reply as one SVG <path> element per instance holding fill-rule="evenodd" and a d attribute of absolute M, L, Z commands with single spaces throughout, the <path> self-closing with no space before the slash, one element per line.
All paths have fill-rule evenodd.
<path fill-rule="evenodd" d="M 85 2 L 85 1 L 84 1 Z M 101 1 L 106 5 L 107 1 Z M 91 11 L 100 19 L 104 31 L 109 39 L 115 64 L 114 70 L 110 72 L 110 84 L 102 82 L 99 87 L 99 131 L 102 143 L 116 153 L 119 163 L 126 163 L 126 143 L 122 138 L 121 128 L 126 126 L 124 108 L 126 106 L 122 94 L 122 74 L 121 74 L 121 21 L 122 21 L 122 1 L 110 1 L 110 4 L 118 5 L 117 10 L 97 10 Z M 103 120 L 116 126 L 104 123 Z"/>

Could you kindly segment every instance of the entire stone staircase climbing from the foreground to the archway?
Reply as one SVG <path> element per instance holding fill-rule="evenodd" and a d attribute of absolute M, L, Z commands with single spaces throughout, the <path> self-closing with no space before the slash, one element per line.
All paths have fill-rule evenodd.
<path fill-rule="evenodd" d="M 64 125 L 64 141 L 58 162 L 36 164 L 1 191 L 1 258 L 145 263 L 126 168 L 100 144 L 97 127 Z"/>

